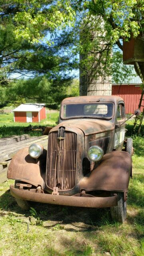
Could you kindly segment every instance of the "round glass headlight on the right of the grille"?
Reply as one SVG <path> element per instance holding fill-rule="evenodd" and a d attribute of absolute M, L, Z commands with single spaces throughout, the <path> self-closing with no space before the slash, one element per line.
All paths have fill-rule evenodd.
<path fill-rule="evenodd" d="M 100 146 L 92 146 L 88 150 L 88 157 L 94 162 L 98 162 L 102 159 L 104 150 Z"/>

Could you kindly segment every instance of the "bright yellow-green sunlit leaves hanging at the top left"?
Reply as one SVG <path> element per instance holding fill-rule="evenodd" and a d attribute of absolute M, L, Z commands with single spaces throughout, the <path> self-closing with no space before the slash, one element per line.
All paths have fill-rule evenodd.
<path fill-rule="evenodd" d="M 22 5 L 13 17 L 17 39 L 35 44 L 44 40 L 45 30 L 53 32 L 74 25 L 75 11 L 71 8 L 70 1 L 49 1 L 50 4 L 45 0 L 28 1 L 29 4 L 17 2 Z"/>

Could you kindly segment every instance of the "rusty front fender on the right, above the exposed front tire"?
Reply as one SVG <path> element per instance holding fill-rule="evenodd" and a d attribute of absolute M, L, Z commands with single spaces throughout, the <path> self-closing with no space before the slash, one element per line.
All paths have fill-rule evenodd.
<path fill-rule="evenodd" d="M 80 191 L 127 191 L 131 168 L 132 157 L 127 152 L 113 151 L 105 154 L 90 176 L 81 180 Z"/>

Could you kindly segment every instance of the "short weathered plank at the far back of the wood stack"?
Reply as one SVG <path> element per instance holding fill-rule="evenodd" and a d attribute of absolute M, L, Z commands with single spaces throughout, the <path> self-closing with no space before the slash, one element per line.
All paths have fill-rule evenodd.
<path fill-rule="evenodd" d="M 30 138 L 28 134 L 22 134 L 20 136 L 12 136 L 12 137 L 6 137 L 6 138 L 0 138 L 0 147 L 10 145 L 22 140 L 27 140 Z"/>

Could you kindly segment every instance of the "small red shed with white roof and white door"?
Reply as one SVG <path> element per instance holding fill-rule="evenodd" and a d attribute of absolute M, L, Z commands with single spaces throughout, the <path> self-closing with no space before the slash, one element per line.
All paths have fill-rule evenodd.
<path fill-rule="evenodd" d="M 14 122 L 40 122 L 46 118 L 45 104 L 21 104 L 13 110 Z"/>

